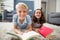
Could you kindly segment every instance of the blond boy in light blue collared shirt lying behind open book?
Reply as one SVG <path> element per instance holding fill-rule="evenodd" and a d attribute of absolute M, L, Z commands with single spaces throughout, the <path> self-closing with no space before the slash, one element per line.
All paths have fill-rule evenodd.
<path fill-rule="evenodd" d="M 32 30 L 32 21 L 27 12 L 28 6 L 25 3 L 18 3 L 16 5 L 16 14 L 13 16 L 13 23 L 14 31 L 18 34 Z"/>

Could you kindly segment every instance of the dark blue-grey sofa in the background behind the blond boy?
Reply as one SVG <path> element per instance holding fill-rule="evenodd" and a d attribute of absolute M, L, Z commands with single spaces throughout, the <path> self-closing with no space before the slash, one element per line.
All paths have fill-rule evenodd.
<path fill-rule="evenodd" d="M 4 11 L 4 21 L 9 21 L 9 22 L 12 22 L 12 18 L 13 18 L 13 15 L 16 14 L 16 11 L 12 11 L 12 12 L 8 12 L 8 11 Z M 28 11 L 28 15 L 32 16 L 33 15 L 33 12 L 32 11 Z"/>

